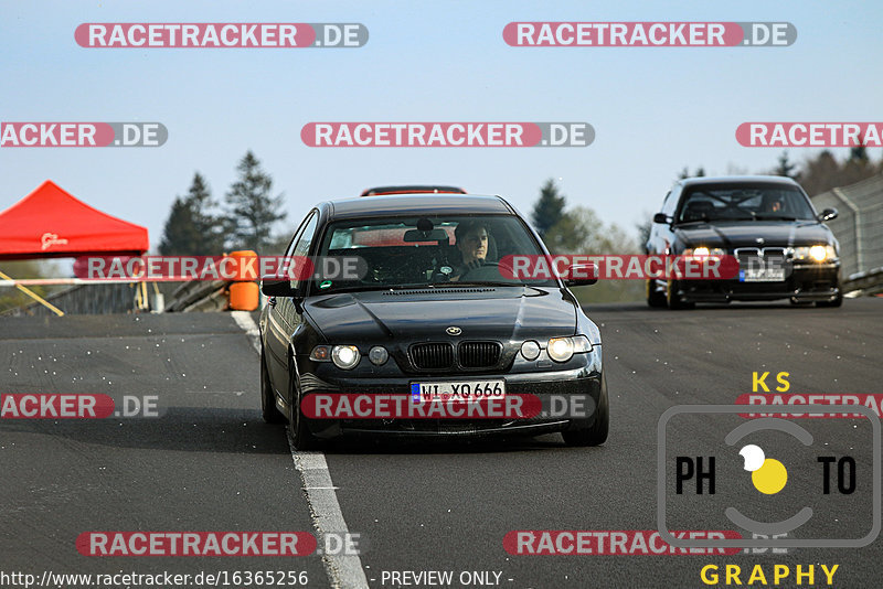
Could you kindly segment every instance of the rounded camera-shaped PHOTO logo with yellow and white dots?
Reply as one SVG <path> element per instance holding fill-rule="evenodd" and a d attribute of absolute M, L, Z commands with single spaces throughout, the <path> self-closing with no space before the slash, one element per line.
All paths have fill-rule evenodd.
<path fill-rule="evenodd" d="M 745 419 L 744 405 L 679 405 L 658 425 L 660 537 L 695 548 L 857 548 L 881 528 L 881 425 L 857 405 L 777 414 L 858 419 Z M 742 539 L 677 537 L 732 529 Z"/>

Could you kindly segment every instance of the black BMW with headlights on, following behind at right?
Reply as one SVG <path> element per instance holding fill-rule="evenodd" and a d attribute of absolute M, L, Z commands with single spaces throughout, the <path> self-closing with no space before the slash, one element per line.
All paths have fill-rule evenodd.
<path fill-rule="evenodd" d="M 648 254 L 734 256 L 728 279 L 647 282 L 650 307 L 688 309 L 696 302 L 768 301 L 840 307 L 839 244 L 800 185 L 784 176 L 689 178 L 666 195 L 653 216 Z"/>

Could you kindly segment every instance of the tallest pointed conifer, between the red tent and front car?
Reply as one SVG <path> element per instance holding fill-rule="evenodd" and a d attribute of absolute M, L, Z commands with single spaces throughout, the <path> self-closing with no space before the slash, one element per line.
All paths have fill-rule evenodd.
<path fill-rule="evenodd" d="M 272 239 L 273 225 L 286 217 L 280 211 L 283 195 L 270 195 L 273 178 L 260 169 L 260 162 L 251 150 L 236 170 L 240 179 L 226 194 L 230 244 L 260 253 Z"/>

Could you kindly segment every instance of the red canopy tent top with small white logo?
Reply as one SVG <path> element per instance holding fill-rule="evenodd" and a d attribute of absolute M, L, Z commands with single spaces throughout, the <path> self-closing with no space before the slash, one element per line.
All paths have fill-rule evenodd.
<path fill-rule="evenodd" d="M 147 228 L 75 199 L 51 180 L 0 213 L 0 259 L 140 256 Z"/>

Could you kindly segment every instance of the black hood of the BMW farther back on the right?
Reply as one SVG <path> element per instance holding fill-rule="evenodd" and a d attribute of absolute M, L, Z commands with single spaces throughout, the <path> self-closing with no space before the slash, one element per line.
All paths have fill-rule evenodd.
<path fill-rule="evenodd" d="M 748 221 L 699 223 L 675 227 L 674 233 L 684 247 L 706 246 L 732 250 L 736 247 L 800 246 L 832 244 L 830 229 L 809 221 Z M 759 242 L 758 239 L 763 239 Z"/>

